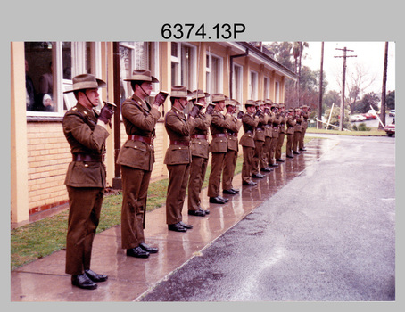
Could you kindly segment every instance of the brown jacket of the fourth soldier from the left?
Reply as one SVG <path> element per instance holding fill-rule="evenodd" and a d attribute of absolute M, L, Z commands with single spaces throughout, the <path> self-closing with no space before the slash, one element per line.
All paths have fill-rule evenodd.
<path fill-rule="evenodd" d="M 194 130 L 191 135 L 206 135 L 207 139 L 192 137 L 191 154 L 196 157 L 208 159 L 208 131 L 210 129 L 212 116 L 199 111 L 194 119 Z"/>

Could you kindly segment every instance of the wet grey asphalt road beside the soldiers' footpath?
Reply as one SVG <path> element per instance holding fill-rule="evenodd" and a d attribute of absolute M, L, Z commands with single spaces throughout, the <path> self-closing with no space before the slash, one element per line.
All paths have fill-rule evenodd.
<path fill-rule="evenodd" d="M 339 142 L 138 300 L 395 300 L 395 139 L 326 137 Z"/>

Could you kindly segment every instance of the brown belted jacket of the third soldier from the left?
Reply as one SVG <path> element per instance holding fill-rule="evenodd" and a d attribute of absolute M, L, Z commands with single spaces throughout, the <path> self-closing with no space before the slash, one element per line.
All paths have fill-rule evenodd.
<path fill-rule="evenodd" d="M 172 107 L 166 114 L 164 127 L 169 135 L 170 145 L 163 163 L 166 165 L 191 163 L 190 134 L 194 129 L 194 124 L 194 119 L 187 120 L 185 113 L 176 107 Z M 182 144 L 175 144 L 176 142 Z"/>

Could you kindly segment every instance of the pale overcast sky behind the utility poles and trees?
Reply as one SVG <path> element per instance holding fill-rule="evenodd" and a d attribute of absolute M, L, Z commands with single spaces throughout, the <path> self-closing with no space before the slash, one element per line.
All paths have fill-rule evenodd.
<path fill-rule="evenodd" d="M 305 47 L 302 52 L 303 55 L 306 55 L 306 57 L 302 59 L 302 65 L 310 67 L 311 70 L 320 70 L 321 42 L 309 41 L 308 43 L 310 46 Z M 343 51 L 336 50 L 336 48 L 343 49 L 344 47 L 348 50 L 353 50 L 352 52 L 348 51 L 346 53 L 348 56 L 356 55 L 356 57 L 346 58 L 346 81 L 349 82 L 351 75 L 358 72 L 356 69 L 360 68 L 368 82 L 374 78 L 374 83 L 364 90 L 364 94 L 367 94 L 368 92 L 381 94 L 383 88 L 385 52 L 385 42 L 383 41 L 325 41 L 323 70 L 328 82 L 326 92 L 330 90 L 335 90 L 337 92 L 342 91 L 343 58 L 335 58 L 335 56 L 343 56 Z M 366 83 L 367 82 L 365 82 L 363 86 L 365 86 Z M 395 90 L 395 42 L 389 42 L 386 92 L 388 93 L 388 91 L 393 90 Z M 345 89 L 345 93 L 346 92 L 347 87 Z"/>

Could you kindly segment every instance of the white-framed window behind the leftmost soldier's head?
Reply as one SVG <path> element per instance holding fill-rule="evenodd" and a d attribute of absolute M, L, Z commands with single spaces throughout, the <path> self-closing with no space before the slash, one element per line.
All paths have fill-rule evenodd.
<path fill-rule="evenodd" d="M 90 73 L 95 43 L 26 42 L 27 116 L 62 116 L 76 104 L 71 78 Z M 96 69 L 94 69 L 96 70 Z"/>

